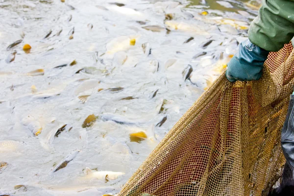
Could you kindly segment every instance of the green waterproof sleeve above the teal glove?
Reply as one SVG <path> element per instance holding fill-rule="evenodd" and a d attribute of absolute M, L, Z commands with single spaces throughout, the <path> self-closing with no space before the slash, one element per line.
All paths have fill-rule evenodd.
<path fill-rule="evenodd" d="M 248 31 L 249 40 L 262 49 L 278 51 L 294 37 L 294 0 L 262 0 Z"/>

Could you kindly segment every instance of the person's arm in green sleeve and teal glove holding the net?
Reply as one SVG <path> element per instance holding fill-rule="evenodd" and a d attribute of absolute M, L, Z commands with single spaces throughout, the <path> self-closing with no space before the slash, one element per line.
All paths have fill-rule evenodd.
<path fill-rule="evenodd" d="M 248 36 L 227 65 L 230 82 L 258 80 L 269 52 L 290 43 L 294 37 L 294 0 L 263 0 Z"/>

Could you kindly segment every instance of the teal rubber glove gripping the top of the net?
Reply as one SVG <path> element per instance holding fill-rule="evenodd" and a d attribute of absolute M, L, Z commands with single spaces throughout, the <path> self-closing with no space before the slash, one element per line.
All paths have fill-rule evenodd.
<path fill-rule="evenodd" d="M 252 44 L 248 39 L 239 46 L 239 51 L 227 65 L 225 73 L 230 82 L 258 80 L 269 51 Z"/>

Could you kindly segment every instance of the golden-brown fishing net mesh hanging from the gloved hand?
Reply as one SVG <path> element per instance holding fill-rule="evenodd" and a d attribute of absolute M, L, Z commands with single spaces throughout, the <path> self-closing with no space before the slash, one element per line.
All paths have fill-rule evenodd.
<path fill-rule="evenodd" d="M 266 196 L 285 162 L 280 131 L 293 86 L 291 43 L 270 52 L 258 81 L 222 74 L 119 196 Z"/>

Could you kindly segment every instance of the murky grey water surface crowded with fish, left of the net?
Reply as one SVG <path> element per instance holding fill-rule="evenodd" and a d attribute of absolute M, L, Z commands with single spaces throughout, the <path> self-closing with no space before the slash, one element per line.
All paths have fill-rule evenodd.
<path fill-rule="evenodd" d="M 225 70 L 257 8 L 0 0 L 0 195 L 118 193 Z"/>

